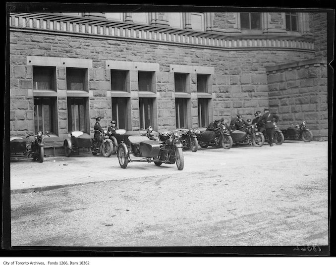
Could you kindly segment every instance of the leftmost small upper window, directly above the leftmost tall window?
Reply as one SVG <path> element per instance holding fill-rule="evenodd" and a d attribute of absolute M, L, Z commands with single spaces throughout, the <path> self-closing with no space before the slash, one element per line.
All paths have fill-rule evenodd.
<path fill-rule="evenodd" d="M 33 66 L 33 89 L 56 90 L 55 67 Z"/>

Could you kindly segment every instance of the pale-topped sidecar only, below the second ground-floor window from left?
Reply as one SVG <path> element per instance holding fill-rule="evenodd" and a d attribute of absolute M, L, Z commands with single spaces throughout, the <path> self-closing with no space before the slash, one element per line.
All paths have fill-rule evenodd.
<path fill-rule="evenodd" d="M 68 134 L 68 138 L 64 140 L 63 147 L 66 157 L 70 157 L 72 153 L 79 151 L 90 151 L 92 146 L 91 136 L 81 131 L 73 131 Z"/>

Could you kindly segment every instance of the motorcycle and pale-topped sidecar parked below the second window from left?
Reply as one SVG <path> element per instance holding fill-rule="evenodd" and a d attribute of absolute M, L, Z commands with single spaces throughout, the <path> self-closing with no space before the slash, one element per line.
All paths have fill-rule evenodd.
<path fill-rule="evenodd" d="M 100 136 L 95 139 L 91 139 L 91 136 L 82 131 L 70 132 L 68 138 L 64 140 L 63 147 L 66 157 L 70 157 L 72 153 L 79 154 L 80 149 L 91 151 L 92 155 L 96 156 L 101 153 L 103 157 L 110 157 L 113 151 L 113 144 L 108 130 L 104 129 L 102 132 L 95 130 L 100 133 Z"/>

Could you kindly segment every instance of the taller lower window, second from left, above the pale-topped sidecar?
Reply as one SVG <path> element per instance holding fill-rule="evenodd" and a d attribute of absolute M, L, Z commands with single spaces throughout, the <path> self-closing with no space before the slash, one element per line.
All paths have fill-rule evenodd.
<path fill-rule="evenodd" d="M 86 98 L 68 97 L 69 131 L 87 131 Z"/>

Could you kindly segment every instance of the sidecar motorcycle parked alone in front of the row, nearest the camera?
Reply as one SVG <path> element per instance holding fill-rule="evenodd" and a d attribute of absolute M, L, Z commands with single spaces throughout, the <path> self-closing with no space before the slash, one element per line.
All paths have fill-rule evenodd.
<path fill-rule="evenodd" d="M 153 131 L 150 126 L 145 134 L 149 135 Z M 141 133 L 141 132 L 140 132 Z M 154 135 L 153 135 L 154 136 Z M 127 131 L 123 135 L 123 140 L 118 145 L 117 157 L 121 168 L 126 168 L 129 162 L 154 162 L 160 166 L 162 163 L 174 164 L 178 170 L 184 167 L 182 144 L 179 139 L 179 132 L 174 131 L 173 135 L 164 135 L 167 140 L 152 138 L 139 134 L 138 131 Z M 130 155 L 142 159 L 131 159 Z"/>

